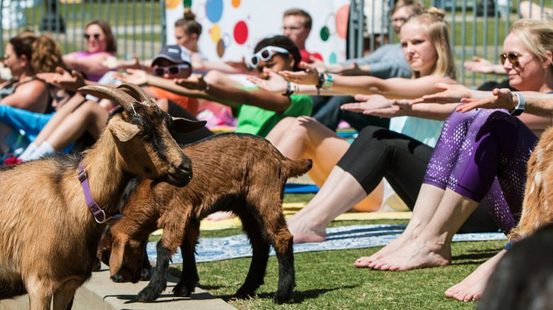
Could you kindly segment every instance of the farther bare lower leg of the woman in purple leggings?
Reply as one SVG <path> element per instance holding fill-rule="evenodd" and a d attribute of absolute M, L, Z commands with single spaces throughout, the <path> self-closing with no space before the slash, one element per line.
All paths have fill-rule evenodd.
<path fill-rule="evenodd" d="M 428 222 L 430 222 L 430 219 L 434 216 L 444 193 L 445 190 L 437 188 L 434 185 L 423 184 L 420 186 L 418 199 L 413 207 L 413 215 L 411 216 L 405 231 L 403 231 L 397 239 L 391 241 L 372 256 L 357 259 L 354 265 L 360 268 L 372 268 L 374 267 L 376 260 L 380 260 L 390 253 L 395 253 L 395 251 L 398 248 L 401 248 L 404 243 L 408 243 L 410 240 L 414 239 L 420 231 L 423 231 Z"/>

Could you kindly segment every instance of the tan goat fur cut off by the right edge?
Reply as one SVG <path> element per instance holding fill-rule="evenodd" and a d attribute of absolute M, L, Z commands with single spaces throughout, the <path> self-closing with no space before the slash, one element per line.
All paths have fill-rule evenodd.
<path fill-rule="evenodd" d="M 520 222 L 510 232 L 510 240 L 529 236 L 553 222 L 553 127 L 537 142 L 527 164 L 526 188 Z"/>

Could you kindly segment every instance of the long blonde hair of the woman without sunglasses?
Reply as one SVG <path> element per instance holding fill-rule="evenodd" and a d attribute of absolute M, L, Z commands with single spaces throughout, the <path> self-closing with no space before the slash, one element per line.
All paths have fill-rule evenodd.
<path fill-rule="evenodd" d="M 407 23 L 418 23 L 425 30 L 428 39 L 434 45 L 437 53 L 436 63 L 431 75 L 449 76 L 455 79 L 457 71 L 453 52 L 449 46 L 449 29 L 444 21 L 445 11 L 440 8 L 427 8 L 424 13 L 411 16 Z M 405 27 L 405 25 L 404 25 Z M 413 78 L 420 77 L 420 72 L 413 71 Z"/>

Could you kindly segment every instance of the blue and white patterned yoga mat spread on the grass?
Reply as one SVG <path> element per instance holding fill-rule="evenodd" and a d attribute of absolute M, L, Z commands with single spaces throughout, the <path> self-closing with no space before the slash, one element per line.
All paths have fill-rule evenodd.
<path fill-rule="evenodd" d="M 385 246 L 405 229 L 406 225 L 353 225 L 328 228 L 326 241 L 318 243 L 294 244 L 294 253 L 311 251 L 342 250 L 347 248 L 372 248 Z M 503 233 L 456 234 L 453 241 L 507 240 Z M 155 262 L 155 243 L 147 244 L 150 261 Z M 271 250 L 274 256 L 274 250 Z M 220 237 L 200 238 L 196 246 L 196 261 L 211 262 L 252 256 L 252 248 L 243 234 Z M 173 263 L 182 263 L 181 253 L 172 257 Z"/>

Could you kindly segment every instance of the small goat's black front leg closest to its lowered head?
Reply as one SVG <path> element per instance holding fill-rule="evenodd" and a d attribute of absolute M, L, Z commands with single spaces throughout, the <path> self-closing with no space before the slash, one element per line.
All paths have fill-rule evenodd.
<path fill-rule="evenodd" d="M 162 241 L 158 241 L 156 245 L 157 260 L 155 271 L 152 275 L 152 280 L 143 288 L 136 299 L 138 302 L 153 302 L 167 287 L 167 270 L 169 270 L 169 258 L 171 251 L 162 245 Z"/>

